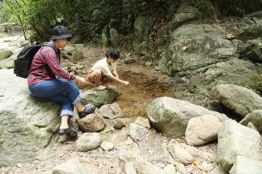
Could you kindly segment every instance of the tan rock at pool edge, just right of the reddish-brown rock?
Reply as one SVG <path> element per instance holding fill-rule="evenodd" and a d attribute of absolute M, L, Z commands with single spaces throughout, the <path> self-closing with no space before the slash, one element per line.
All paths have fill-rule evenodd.
<path fill-rule="evenodd" d="M 123 116 L 123 111 L 117 102 L 106 104 L 99 108 L 103 118 L 114 119 Z"/>

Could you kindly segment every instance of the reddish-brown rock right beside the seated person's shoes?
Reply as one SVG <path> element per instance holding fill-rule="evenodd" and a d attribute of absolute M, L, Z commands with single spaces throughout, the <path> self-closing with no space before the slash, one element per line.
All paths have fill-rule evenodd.
<path fill-rule="evenodd" d="M 97 111 L 88 114 L 85 118 L 81 118 L 77 123 L 79 124 L 80 129 L 85 132 L 97 132 L 105 128 L 105 120 Z"/>

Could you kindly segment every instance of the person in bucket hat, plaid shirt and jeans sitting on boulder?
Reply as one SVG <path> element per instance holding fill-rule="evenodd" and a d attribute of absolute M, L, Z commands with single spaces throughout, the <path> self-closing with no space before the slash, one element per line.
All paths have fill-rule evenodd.
<path fill-rule="evenodd" d="M 68 28 L 62 25 L 54 27 L 49 44 L 54 45 L 55 50 L 44 46 L 34 55 L 28 75 L 28 87 L 32 95 L 49 98 L 61 105 L 61 126 L 58 134 L 75 138 L 77 131 L 68 127 L 68 119 L 74 116 L 74 106 L 77 107 L 80 118 L 94 112 L 96 107 L 92 104 L 84 107 L 80 102 L 83 95 L 75 83 L 88 85 L 88 81 L 68 73 L 59 65 L 61 61 L 59 49 L 63 49 L 70 39 L 72 39 L 72 34 Z"/>

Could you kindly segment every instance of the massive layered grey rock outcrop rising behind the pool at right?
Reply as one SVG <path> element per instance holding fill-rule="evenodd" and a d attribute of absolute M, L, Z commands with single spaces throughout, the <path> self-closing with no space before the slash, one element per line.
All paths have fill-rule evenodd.
<path fill-rule="evenodd" d="M 159 46 L 156 60 L 158 69 L 174 77 L 174 98 L 221 112 L 223 106 L 210 103 L 216 85 L 230 83 L 262 94 L 261 21 L 256 12 L 223 26 L 194 21 L 170 30 L 167 49 Z"/>

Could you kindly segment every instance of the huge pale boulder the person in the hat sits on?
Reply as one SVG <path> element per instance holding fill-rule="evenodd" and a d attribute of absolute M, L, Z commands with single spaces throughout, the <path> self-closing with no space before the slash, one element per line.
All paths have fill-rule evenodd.
<path fill-rule="evenodd" d="M 0 167 L 44 160 L 59 129 L 60 107 L 35 98 L 14 69 L 0 69 Z"/>

